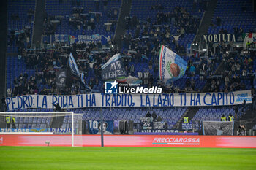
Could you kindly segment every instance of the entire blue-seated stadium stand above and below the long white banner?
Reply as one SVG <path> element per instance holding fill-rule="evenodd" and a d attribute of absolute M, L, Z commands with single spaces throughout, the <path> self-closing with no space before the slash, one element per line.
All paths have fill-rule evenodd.
<path fill-rule="evenodd" d="M 255 53 L 243 53 L 236 47 L 219 45 L 219 50 L 208 56 L 206 53 L 187 56 L 186 47 L 193 43 L 197 34 L 203 18 L 204 4 L 192 0 L 175 1 L 175 3 L 167 0 L 148 0 L 147 3 L 143 0 L 132 1 L 130 15 L 126 17 L 126 33 L 121 37 L 121 49 L 116 49 L 114 47 L 116 45 L 110 39 L 116 31 L 121 1 L 108 1 L 108 3 L 100 1 L 98 4 L 93 0 L 83 0 L 79 3 L 47 0 L 42 44 L 31 50 L 35 5 L 35 1 L 8 1 L 7 48 L 8 53 L 18 53 L 18 55 L 7 57 L 6 85 L 9 97 L 25 94 L 103 93 L 104 81 L 100 76 L 99 67 L 116 53 L 121 53 L 127 73 L 141 78 L 144 86 L 162 86 L 158 73 L 159 45 L 161 44 L 170 47 L 188 62 L 184 77 L 167 87 L 162 86 L 165 93 L 252 90 L 252 96 L 255 96 Z M 208 34 L 233 33 L 242 39 L 246 32 L 255 31 L 256 15 L 249 6 L 249 0 L 235 2 L 219 0 Z M 236 19 L 230 18 L 230 14 L 235 14 Z M 216 23 L 217 17 L 220 19 Z M 218 23 L 219 20 L 221 20 L 220 23 Z M 66 35 L 64 43 L 58 41 L 62 39 L 59 35 Z M 80 35 L 102 36 L 105 42 L 78 42 L 78 39 L 70 42 L 73 37 Z M 172 36 L 178 35 L 181 36 L 176 41 Z M 105 38 L 108 36 L 110 39 Z M 26 41 L 23 41 L 25 37 Z M 95 51 L 97 53 L 94 53 Z M 72 77 L 68 88 L 64 90 L 56 88 L 55 74 L 59 69 L 67 66 L 67 57 L 70 52 L 74 54 L 80 71 L 86 74 L 86 85 L 91 90 L 81 87 L 76 77 Z M 246 113 L 242 109 L 238 109 L 236 120 L 240 120 Z M 246 110 L 248 109 L 249 107 L 246 107 Z M 20 111 L 50 112 L 53 110 L 24 109 Z M 72 109 L 72 111 L 82 114 L 82 119 L 85 121 L 99 120 L 99 108 Z M 152 111 L 157 112 L 157 115 L 167 122 L 168 128 L 173 128 L 181 121 L 188 108 L 156 107 Z M 146 115 L 147 110 L 111 108 L 103 109 L 103 112 L 105 120 L 132 120 L 134 123 L 140 123 L 140 118 Z M 234 112 L 233 107 L 200 108 L 192 116 L 192 121 L 217 121 L 222 114 L 227 117 L 229 113 L 234 114 Z M 16 121 L 19 123 L 19 128 L 46 128 L 51 125 L 53 119 L 51 117 L 26 117 L 25 119 L 16 117 Z M 70 116 L 64 117 L 62 128 L 69 128 L 70 121 Z"/>

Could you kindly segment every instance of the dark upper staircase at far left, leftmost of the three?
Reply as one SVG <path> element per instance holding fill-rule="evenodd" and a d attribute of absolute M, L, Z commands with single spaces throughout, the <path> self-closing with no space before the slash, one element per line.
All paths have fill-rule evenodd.
<path fill-rule="evenodd" d="M 41 36 L 43 33 L 42 23 L 44 21 L 44 14 L 45 14 L 45 0 L 37 0 L 35 17 L 34 17 L 34 30 L 32 34 L 32 44 L 35 44 L 36 42 L 41 42 Z"/>

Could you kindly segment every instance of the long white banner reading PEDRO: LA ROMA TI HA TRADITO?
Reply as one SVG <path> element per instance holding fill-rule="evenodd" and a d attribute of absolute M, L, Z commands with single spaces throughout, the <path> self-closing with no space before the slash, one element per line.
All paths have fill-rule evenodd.
<path fill-rule="evenodd" d="M 250 90 L 230 93 L 170 93 L 170 94 L 79 94 L 73 96 L 26 95 L 6 98 L 7 110 L 25 108 L 63 109 L 83 107 L 200 107 L 229 106 L 252 103 Z"/>

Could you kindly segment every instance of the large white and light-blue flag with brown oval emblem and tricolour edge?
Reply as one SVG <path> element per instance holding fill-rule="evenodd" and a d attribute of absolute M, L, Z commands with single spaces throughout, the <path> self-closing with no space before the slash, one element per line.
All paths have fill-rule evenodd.
<path fill-rule="evenodd" d="M 181 78 L 187 69 L 187 61 L 184 61 L 179 55 L 161 46 L 159 53 L 159 77 L 165 84 Z"/>

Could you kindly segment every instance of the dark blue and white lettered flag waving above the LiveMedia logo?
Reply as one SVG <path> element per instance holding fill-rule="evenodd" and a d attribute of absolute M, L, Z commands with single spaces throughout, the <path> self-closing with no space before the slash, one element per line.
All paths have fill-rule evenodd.
<path fill-rule="evenodd" d="M 124 63 L 121 61 L 120 54 L 113 55 L 102 66 L 102 79 L 118 80 L 119 82 L 125 82 L 127 80 L 127 72 L 124 69 Z"/>

